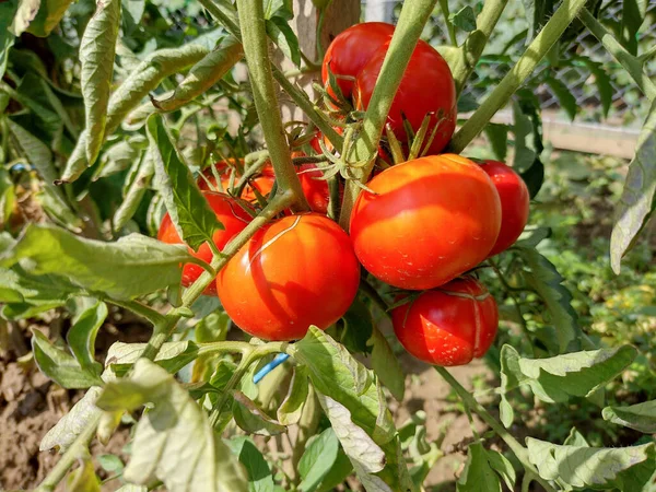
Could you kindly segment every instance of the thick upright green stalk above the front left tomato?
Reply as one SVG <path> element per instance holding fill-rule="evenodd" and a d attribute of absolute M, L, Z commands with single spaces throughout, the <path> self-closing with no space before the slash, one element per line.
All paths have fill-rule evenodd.
<path fill-rule="evenodd" d="M 242 26 L 242 43 L 248 63 L 248 74 L 253 98 L 265 133 L 269 156 L 276 172 L 279 190 L 290 190 L 294 195 L 292 208 L 295 211 L 309 210 L 298 175 L 282 127 L 278 94 L 273 85 L 269 38 L 265 25 L 265 10 L 261 0 L 237 0 L 237 13 Z"/>

